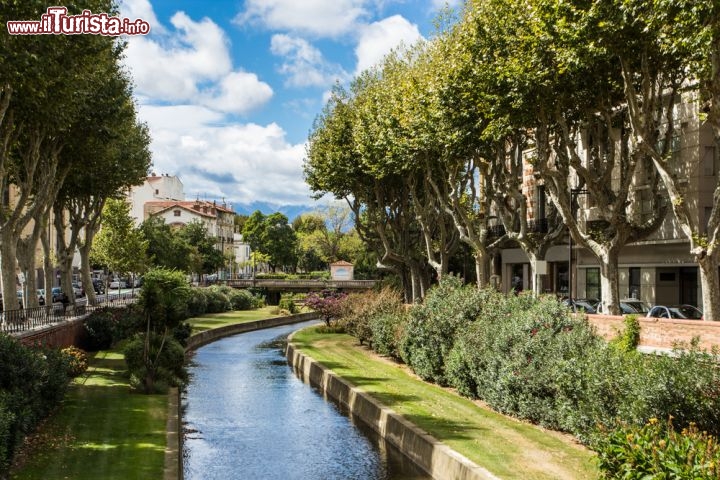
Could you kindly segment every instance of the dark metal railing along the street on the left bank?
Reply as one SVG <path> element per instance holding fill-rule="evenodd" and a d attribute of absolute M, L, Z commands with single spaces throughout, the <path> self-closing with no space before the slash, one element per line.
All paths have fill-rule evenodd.
<path fill-rule="evenodd" d="M 93 304 L 76 302 L 75 305 L 53 303 L 43 307 L 0 311 L 0 332 L 19 334 L 39 327 L 66 322 L 94 310 L 125 306 L 137 301 L 137 292 L 105 295 Z"/>

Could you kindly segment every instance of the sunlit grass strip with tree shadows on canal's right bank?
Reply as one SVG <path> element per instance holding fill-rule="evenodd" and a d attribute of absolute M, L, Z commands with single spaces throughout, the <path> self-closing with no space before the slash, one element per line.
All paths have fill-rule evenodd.
<path fill-rule="evenodd" d="M 594 454 L 572 438 L 506 417 L 418 379 L 349 335 L 298 332 L 293 343 L 359 389 L 503 479 L 595 479 Z"/>

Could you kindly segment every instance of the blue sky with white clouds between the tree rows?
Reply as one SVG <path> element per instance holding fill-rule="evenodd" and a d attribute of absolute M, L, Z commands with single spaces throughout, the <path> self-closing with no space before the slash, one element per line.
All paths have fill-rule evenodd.
<path fill-rule="evenodd" d="M 152 171 L 177 175 L 187 199 L 224 200 L 239 213 L 315 209 L 302 165 L 330 89 L 432 37 L 445 4 L 121 0 L 121 17 L 151 25 L 126 37 L 124 63 Z"/>

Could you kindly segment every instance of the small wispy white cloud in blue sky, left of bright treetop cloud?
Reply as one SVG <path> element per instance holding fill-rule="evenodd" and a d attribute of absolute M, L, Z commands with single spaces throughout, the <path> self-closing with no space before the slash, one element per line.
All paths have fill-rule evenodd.
<path fill-rule="evenodd" d="M 273 35 L 270 51 L 283 57 L 279 72 L 286 76 L 288 86 L 322 87 L 348 78 L 342 67 L 326 62 L 320 50 L 305 39 L 285 34 Z"/>

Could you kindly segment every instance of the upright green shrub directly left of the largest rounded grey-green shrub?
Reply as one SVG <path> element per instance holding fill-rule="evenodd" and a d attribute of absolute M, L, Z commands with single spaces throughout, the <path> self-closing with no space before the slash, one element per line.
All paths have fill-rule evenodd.
<path fill-rule="evenodd" d="M 494 295 L 491 290 L 464 286 L 458 277 L 444 277 L 423 304 L 410 310 L 400 345 L 405 363 L 424 380 L 446 385 L 445 363 L 456 334 L 478 318 L 483 305 Z"/>

